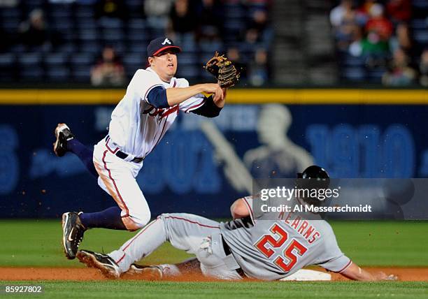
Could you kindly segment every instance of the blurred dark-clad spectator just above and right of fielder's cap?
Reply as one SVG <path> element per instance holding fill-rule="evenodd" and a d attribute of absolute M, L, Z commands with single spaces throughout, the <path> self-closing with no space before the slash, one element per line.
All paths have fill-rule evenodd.
<path fill-rule="evenodd" d="M 193 36 L 197 24 L 197 15 L 192 9 L 190 0 L 177 0 L 169 13 L 168 36 L 183 41 L 185 36 Z"/>

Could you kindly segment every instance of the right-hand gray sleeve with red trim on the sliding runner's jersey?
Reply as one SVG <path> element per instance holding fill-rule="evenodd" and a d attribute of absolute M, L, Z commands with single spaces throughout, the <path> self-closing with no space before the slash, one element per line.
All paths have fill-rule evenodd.
<path fill-rule="evenodd" d="M 336 237 L 334 233 L 331 233 L 329 237 L 323 240 L 320 248 L 320 257 L 317 265 L 322 268 L 330 270 L 332 272 L 341 273 L 348 269 L 352 264 L 352 261 L 348 256 L 345 256 L 341 249 L 337 245 Z"/>

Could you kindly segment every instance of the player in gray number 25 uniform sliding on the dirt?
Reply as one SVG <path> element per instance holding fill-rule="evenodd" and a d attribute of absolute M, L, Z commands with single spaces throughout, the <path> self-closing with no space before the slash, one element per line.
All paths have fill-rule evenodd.
<path fill-rule="evenodd" d="M 301 177 L 309 182 L 329 182 L 327 172 L 319 166 L 306 168 Z M 195 254 L 201 272 L 217 279 L 277 280 L 306 265 L 320 265 L 356 280 L 392 278 L 384 273 L 371 275 L 352 263 L 339 249 L 327 221 L 305 219 L 303 214 L 294 212 L 278 212 L 273 219 L 272 214 L 252 209 L 255 200 L 258 199 L 252 196 L 236 200 L 231 205 L 234 220 L 227 223 L 194 214 L 161 214 L 120 249 L 107 255 L 81 250 L 77 256 L 108 277 L 120 277 L 135 261 L 169 241 L 173 247 Z M 313 202 L 313 198 L 301 200 Z M 180 272 L 177 265 L 155 268 L 160 276 Z"/>

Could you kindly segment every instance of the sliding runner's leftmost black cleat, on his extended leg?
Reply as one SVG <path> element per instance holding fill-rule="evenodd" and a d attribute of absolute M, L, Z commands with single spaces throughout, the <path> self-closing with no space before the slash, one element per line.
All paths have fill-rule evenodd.
<path fill-rule="evenodd" d="M 121 272 L 119 265 L 107 254 L 99 254 L 89 250 L 79 250 L 77 257 L 80 263 L 84 263 L 89 268 L 101 270 L 105 277 L 114 279 L 120 277 Z"/>

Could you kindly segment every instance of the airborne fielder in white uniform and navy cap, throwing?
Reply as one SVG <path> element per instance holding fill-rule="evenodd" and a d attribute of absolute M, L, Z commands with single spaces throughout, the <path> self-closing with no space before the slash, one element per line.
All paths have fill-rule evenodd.
<path fill-rule="evenodd" d="M 88 228 L 135 231 L 148 224 L 150 209 L 136 182 L 145 156 L 155 149 L 179 112 L 216 117 L 224 105 L 227 87 L 189 86 L 184 78 L 174 77 L 181 50 L 169 38 L 154 39 L 147 52 L 150 66 L 136 71 L 113 110 L 108 135 L 93 152 L 73 136 L 66 124 L 58 124 L 55 129 L 55 154 L 76 154 L 117 203 L 101 212 L 62 215 L 63 245 L 69 259 L 76 257 Z"/>

